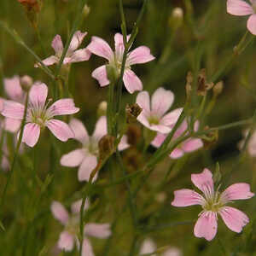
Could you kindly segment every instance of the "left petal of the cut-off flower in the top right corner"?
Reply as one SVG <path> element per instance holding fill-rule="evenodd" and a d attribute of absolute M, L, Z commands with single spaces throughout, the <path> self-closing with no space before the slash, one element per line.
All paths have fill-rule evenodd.
<path fill-rule="evenodd" d="M 227 1 L 227 12 L 230 15 L 252 15 L 253 14 L 253 7 L 246 3 L 245 1 L 241 0 L 228 0 Z"/>

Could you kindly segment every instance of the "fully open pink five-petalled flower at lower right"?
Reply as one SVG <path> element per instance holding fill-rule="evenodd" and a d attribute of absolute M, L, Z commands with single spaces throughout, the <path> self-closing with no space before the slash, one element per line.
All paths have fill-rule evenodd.
<path fill-rule="evenodd" d="M 192 183 L 203 192 L 198 194 L 195 190 L 180 189 L 174 191 L 174 207 L 189 207 L 201 205 L 202 212 L 195 224 L 194 234 L 196 237 L 204 237 L 211 241 L 217 233 L 218 214 L 224 220 L 227 227 L 240 233 L 242 228 L 249 223 L 247 215 L 236 208 L 226 206 L 234 200 L 243 200 L 253 197 L 250 186 L 247 183 L 235 183 L 220 193 L 214 191 L 212 172 L 205 169 L 199 174 L 191 175 Z"/>

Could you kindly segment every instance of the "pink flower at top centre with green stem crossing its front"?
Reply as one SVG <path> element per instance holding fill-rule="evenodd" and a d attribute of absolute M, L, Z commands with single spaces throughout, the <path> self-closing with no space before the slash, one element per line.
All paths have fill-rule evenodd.
<path fill-rule="evenodd" d="M 127 39 L 129 38 L 130 36 L 127 37 Z M 102 38 L 92 37 L 91 43 L 87 48 L 93 54 L 107 59 L 108 65 L 112 66 L 117 76 L 119 76 L 125 51 L 123 36 L 121 34 L 116 33 L 114 35 L 114 44 L 115 51 L 113 52 L 108 43 Z M 136 90 L 143 90 L 143 83 L 137 77 L 137 75 L 131 71 L 131 65 L 142 64 L 153 60 L 154 56 L 150 54 L 150 49 L 148 49 L 146 46 L 140 46 L 128 53 L 127 60 L 125 62 L 123 81 L 126 89 L 130 93 L 133 93 Z M 109 81 L 106 65 L 96 68 L 96 70 L 92 73 L 92 77 L 97 79 L 101 86 L 108 85 Z"/>

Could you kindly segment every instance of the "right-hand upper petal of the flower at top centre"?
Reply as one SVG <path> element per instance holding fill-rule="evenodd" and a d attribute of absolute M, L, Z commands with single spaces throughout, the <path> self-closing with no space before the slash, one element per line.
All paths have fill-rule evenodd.
<path fill-rule="evenodd" d="M 154 56 L 150 54 L 150 49 L 146 46 L 140 46 L 137 49 L 133 49 L 128 55 L 127 64 L 142 64 L 153 60 Z"/>

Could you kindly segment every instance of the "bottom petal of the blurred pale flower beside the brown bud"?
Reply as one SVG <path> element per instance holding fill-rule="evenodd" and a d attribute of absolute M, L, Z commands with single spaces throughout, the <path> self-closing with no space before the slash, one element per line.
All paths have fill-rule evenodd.
<path fill-rule="evenodd" d="M 79 167 L 79 181 L 89 181 L 90 173 L 95 169 L 97 166 L 97 158 L 95 155 L 89 154 L 84 161 L 82 162 L 81 166 Z M 93 178 L 93 181 L 96 180 L 96 176 Z"/>

